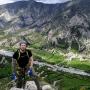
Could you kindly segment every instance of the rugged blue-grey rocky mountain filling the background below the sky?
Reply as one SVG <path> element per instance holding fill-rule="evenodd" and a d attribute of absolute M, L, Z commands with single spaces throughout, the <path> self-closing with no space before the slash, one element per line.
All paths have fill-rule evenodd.
<path fill-rule="evenodd" d="M 53 46 L 75 48 L 80 52 L 89 50 L 89 8 L 90 0 L 72 0 L 61 4 L 29 0 L 1 5 L 0 31 L 35 29 L 48 36 Z"/>

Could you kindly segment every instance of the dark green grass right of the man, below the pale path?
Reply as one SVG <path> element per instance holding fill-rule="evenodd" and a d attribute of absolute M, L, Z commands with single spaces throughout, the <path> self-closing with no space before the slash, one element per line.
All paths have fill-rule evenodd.
<path fill-rule="evenodd" d="M 38 72 L 42 71 L 44 73 L 41 77 L 45 76 L 44 79 L 51 84 L 54 84 L 54 81 L 56 81 L 56 86 L 59 90 L 90 90 L 90 77 L 63 72 L 52 72 L 47 70 L 47 67 L 40 67 L 38 69 Z"/>

